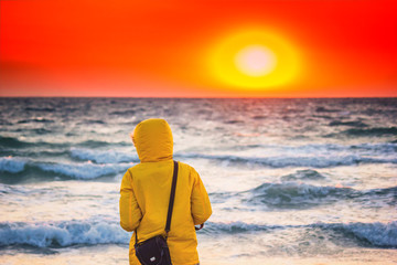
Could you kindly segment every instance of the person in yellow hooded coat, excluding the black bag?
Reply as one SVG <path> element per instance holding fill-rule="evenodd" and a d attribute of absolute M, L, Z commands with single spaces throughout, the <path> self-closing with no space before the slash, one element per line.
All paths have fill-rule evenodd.
<path fill-rule="evenodd" d="M 138 235 L 141 243 L 162 234 L 173 176 L 173 137 L 164 119 L 139 123 L 132 135 L 140 163 L 129 168 L 121 180 L 120 225 Z M 212 214 L 208 194 L 196 170 L 179 162 L 175 198 L 168 245 L 173 265 L 198 264 L 195 226 Z M 135 254 L 136 236 L 129 246 L 129 264 L 140 264 Z"/>

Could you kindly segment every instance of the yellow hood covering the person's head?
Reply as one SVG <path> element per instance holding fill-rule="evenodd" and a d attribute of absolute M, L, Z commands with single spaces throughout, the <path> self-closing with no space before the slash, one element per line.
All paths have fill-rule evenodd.
<path fill-rule="evenodd" d="M 141 162 L 158 162 L 172 159 L 173 138 L 164 119 L 146 119 L 137 125 L 132 141 Z"/>

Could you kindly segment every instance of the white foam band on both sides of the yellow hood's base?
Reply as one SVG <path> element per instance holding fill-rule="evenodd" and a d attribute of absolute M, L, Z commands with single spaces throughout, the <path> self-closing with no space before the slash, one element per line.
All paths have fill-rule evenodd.
<path fill-rule="evenodd" d="M 245 147 L 247 148 L 247 147 Z M 250 148 L 256 150 L 259 148 L 258 155 L 261 152 L 273 153 L 271 157 L 260 156 L 240 156 L 236 155 L 207 155 L 207 153 L 191 153 L 178 152 L 175 157 L 180 158 L 204 158 L 216 159 L 227 162 L 247 162 L 259 163 L 273 168 L 282 167 L 314 167 L 326 168 L 335 166 L 350 166 L 356 163 L 397 163 L 395 157 L 388 155 L 395 153 L 397 150 L 396 144 L 363 144 L 356 146 L 342 145 L 304 145 L 304 146 L 255 146 Z M 357 152 L 357 150 L 360 152 Z M 257 150 L 258 151 L 258 150 Z M 139 161 L 136 152 L 122 152 L 115 149 L 110 150 L 94 150 L 83 148 L 71 148 L 71 157 L 81 160 L 90 160 L 97 163 L 118 163 Z M 351 155 L 350 155 L 351 152 Z M 282 153 L 282 155 L 278 155 Z M 372 156 L 374 155 L 374 156 Z M 380 156 L 384 155 L 384 156 Z"/>

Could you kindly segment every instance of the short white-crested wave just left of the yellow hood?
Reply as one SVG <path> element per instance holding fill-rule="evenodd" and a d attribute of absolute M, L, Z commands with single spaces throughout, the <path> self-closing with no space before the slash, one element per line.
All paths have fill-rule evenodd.
<path fill-rule="evenodd" d="M 137 155 L 120 152 L 116 150 L 92 150 L 71 148 L 71 157 L 79 160 L 90 160 L 97 163 L 139 162 Z"/>

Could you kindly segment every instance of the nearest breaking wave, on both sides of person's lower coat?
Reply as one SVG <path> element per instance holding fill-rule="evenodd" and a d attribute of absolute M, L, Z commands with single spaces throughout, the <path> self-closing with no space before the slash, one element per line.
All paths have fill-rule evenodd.
<path fill-rule="evenodd" d="M 361 246 L 397 247 L 397 221 L 389 223 L 313 223 L 301 225 L 271 225 L 245 223 L 206 222 L 200 233 L 218 234 L 267 233 L 279 230 L 319 230 L 331 233 L 340 244 L 356 240 Z M 104 218 L 57 222 L 3 222 L 0 223 L 0 246 L 31 245 L 35 247 L 67 247 L 73 245 L 128 244 L 131 234 L 117 221 Z M 238 236 L 238 235 L 236 235 Z"/>

